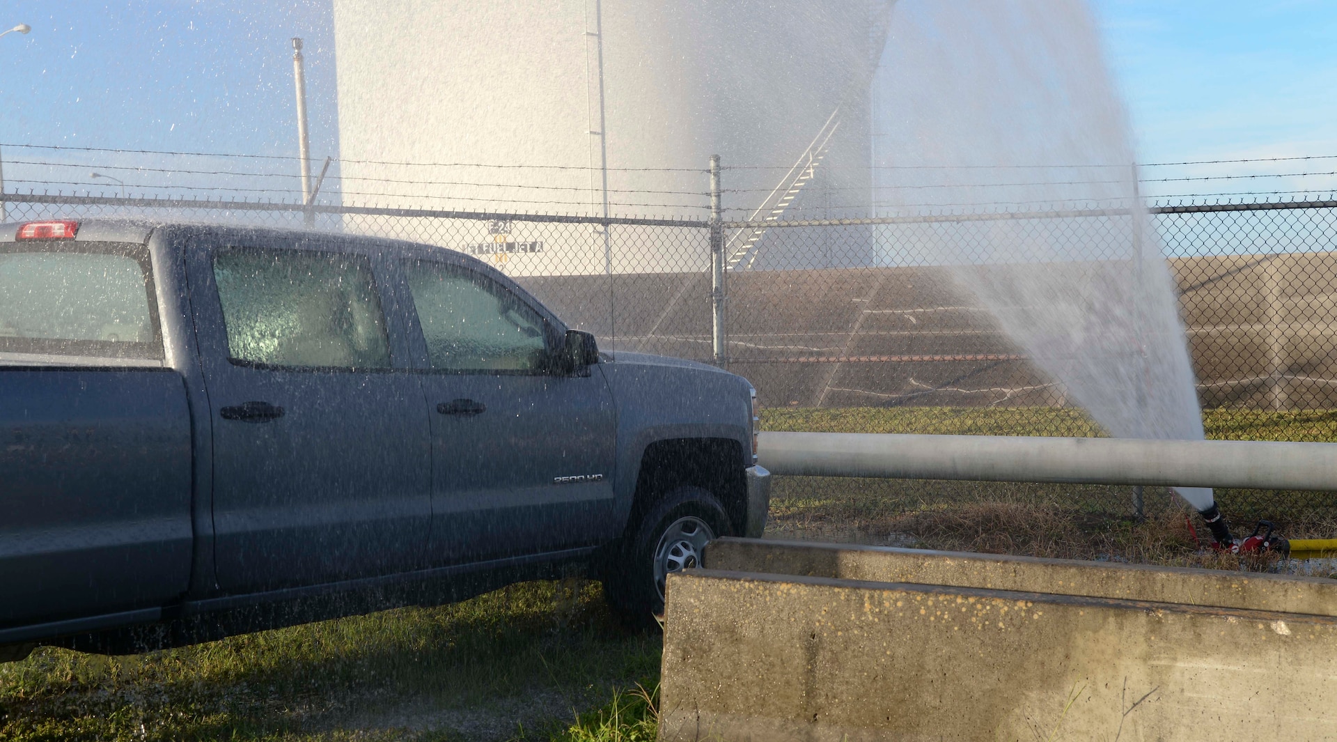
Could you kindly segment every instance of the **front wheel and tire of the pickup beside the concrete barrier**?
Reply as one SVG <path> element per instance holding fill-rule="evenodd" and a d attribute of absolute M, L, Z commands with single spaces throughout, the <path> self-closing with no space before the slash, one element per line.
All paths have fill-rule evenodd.
<path fill-rule="evenodd" d="M 709 491 L 690 485 L 673 489 L 640 519 L 604 579 L 608 606 L 634 628 L 658 624 L 664 612 L 666 576 L 698 567 L 706 541 L 729 531 L 729 515 Z"/>

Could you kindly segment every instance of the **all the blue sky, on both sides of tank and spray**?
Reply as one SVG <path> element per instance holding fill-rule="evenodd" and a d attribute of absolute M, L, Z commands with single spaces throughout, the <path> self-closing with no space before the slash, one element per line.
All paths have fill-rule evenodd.
<path fill-rule="evenodd" d="M 1337 155 L 1337 3 L 1092 8 L 1142 162 Z M 0 3 L 0 28 L 20 21 L 32 33 L 0 39 L 0 143 L 293 155 L 303 36 L 313 156 L 337 156 L 329 0 Z"/>

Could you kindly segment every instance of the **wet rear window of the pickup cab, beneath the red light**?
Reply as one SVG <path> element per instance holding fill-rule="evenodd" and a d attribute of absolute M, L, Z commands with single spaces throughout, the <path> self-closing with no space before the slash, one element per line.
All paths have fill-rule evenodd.
<path fill-rule="evenodd" d="M 48 357 L 56 358 L 48 358 Z M 162 360 L 148 250 L 110 242 L 0 246 L 0 361 Z"/>

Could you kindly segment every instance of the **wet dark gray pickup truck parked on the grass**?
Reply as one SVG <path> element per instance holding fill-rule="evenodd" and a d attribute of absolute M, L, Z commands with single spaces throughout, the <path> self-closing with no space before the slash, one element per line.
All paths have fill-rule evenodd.
<path fill-rule="evenodd" d="M 642 620 L 706 540 L 761 535 L 754 396 L 439 247 L 0 225 L 0 659 L 580 570 Z"/>

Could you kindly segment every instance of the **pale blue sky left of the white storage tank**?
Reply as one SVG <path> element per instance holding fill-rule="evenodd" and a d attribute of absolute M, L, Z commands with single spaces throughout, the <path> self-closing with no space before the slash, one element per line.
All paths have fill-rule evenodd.
<path fill-rule="evenodd" d="M 294 154 L 289 37 L 306 41 L 313 155 L 337 146 L 329 0 L 0 3 L 0 140 Z"/>

